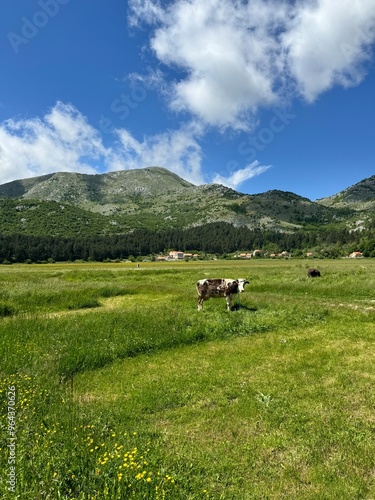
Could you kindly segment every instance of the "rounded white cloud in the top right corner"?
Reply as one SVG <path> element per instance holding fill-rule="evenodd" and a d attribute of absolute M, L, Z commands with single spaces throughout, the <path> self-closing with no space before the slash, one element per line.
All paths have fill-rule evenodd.
<path fill-rule="evenodd" d="M 358 85 L 375 40 L 373 0 L 320 0 L 296 13 L 283 36 L 291 75 L 308 101 L 334 85 Z"/>

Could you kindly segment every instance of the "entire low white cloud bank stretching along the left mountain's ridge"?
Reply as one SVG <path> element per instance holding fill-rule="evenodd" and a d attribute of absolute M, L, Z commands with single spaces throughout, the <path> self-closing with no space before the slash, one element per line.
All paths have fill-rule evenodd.
<path fill-rule="evenodd" d="M 145 137 L 138 141 L 125 129 L 115 131 L 112 147 L 71 104 L 58 102 L 42 118 L 0 123 L 0 183 L 53 172 L 103 171 L 162 166 L 201 184 L 202 151 L 199 124 Z"/>

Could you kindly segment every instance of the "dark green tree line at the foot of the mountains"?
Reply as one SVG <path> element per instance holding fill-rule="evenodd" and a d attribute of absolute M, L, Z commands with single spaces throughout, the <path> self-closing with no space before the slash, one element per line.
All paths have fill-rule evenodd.
<path fill-rule="evenodd" d="M 225 256 L 236 251 L 260 249 L 269 253 L 288 251 L 302 255 L 318 251 L 322 257 L 362 251 L 375 257 L 375 230 L 349 232 L 312 230 L 282 233 L 218 222 L 189 229 L 136 230 L 101 236 L 0 235 L 0 263 L 45 261 L 104 261 L 131 256 L 157 255 L 171 249 Z"/>

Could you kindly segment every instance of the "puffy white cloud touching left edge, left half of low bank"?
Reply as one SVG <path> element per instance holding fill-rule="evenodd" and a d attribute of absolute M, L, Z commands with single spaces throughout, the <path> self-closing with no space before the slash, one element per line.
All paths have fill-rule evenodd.
<path fill-rule="evenodd" d="M 93 173 L 105 154 L 99 133 L 74 106 L 58 102 L 43 119 L 0 124 L 1 182 L 51 172 Z"/>

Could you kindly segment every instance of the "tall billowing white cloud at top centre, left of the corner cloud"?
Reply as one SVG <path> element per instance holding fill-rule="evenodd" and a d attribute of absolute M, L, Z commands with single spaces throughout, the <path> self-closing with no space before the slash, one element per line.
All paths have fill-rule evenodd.
<path fill-rule="evenodd" d="M 268 76 L 273 63 L 267 67 L 264 55 L 278 49 L 258 18 L 245 18 L 233 2 L 194 0 L 175 2 L 160 21 L 152 49 L 163 63 L 186 71 L 172 85 L 174 109 L 211 125 L 244 129 L 260 105 L 276 100 Z"/>

